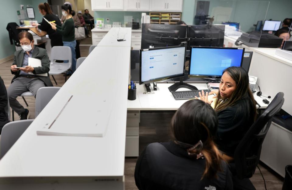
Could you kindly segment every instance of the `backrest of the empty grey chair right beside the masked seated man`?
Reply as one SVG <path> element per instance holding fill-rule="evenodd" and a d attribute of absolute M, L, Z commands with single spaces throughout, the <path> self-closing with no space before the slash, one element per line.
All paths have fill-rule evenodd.
<path fill-rule="evenodd" d="M 51 63 L 56 63 L 55 60 L 68 60 L 69 65 L 72 64 L 72 53 L 70 47 L 54 46 L 51 50 Z"/>

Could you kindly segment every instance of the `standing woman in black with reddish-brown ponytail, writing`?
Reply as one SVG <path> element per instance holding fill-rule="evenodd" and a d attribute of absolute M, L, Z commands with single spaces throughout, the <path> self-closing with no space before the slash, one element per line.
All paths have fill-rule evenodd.
<path fill-rule="evenodd" d="M 43 18 L 47 19 L 48 21 L 55 21 L 56 25 L 58 26 L 62 25 L 60 19 L 56 15 L 54 15 L 48 3 L 40 3 L 39 12 L 43 15 Z M 47 32 L 51 40 L 52 47 L 63 46 L 62 35 L 53 30 L 51 25 L 47 23 L 45 19 L 43 19 L 42 22 L 38 24 L 33 24 L 33 26 L 36 26 L 36 28 Z"/>

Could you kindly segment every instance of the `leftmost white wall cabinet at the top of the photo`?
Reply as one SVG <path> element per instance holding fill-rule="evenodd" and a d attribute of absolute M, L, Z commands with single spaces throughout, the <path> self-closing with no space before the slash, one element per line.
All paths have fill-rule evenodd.
<path fill-rule="evenodd" d="M 91 0 L 92 11 L 123 10 L 123 0 Z"/>

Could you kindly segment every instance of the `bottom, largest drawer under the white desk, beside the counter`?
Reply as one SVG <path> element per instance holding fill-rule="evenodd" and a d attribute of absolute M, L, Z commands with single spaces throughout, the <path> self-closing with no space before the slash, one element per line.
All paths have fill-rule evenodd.
<path fill-rule="evenodd" d="M 139 156 L 139 135 L 126 135 L 125 156 Z"/>

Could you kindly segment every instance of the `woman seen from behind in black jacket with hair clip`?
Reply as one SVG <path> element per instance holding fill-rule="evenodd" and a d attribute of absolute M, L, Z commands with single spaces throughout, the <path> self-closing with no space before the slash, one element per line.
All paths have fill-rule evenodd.
<path fill-rule="evenodd" d="M 201 100 L 189 100 L 172 117 L 173 141 L 141 153 L 135 182 L 141 189 L 233 189 L 231 173 L 213 142 L 218 119 Z"/>

